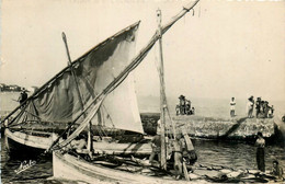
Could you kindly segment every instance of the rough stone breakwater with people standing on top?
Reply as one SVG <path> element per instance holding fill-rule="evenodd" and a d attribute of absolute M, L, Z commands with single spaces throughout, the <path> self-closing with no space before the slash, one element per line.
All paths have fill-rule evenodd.
<path fill-rule="evenodd" d="M 175 116 L 173 120 L 176 127 L 185 129 L 191 137 L 198 138 L 252 139 L 258 131 L 265 138 L 275 134 L 273 118 L 216 118 L 193 115 Z"/>

